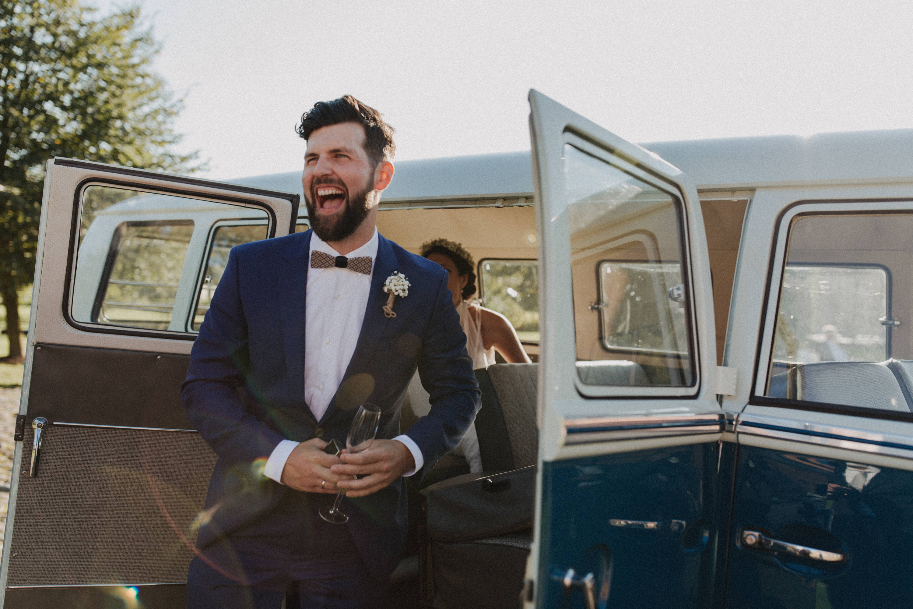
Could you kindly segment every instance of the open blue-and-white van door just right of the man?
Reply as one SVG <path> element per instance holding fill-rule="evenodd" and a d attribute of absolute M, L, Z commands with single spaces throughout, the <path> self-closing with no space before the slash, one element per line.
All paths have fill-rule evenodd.
<path fill-rule="evenodd" d="M 697 191 L 538 91 L 530 109 L 542 341 L 526 606 L 708 604 L 725 417 Z"/>

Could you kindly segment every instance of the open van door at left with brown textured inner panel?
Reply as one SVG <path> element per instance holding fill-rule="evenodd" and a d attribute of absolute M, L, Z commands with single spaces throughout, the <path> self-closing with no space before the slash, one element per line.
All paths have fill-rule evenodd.
<path fill-rule="evenodd" d="M 215 455 L 184 415 L 230 247 L 294 231 L 298 194 L 47 163 L 3 607 L 184 606 Z"/>

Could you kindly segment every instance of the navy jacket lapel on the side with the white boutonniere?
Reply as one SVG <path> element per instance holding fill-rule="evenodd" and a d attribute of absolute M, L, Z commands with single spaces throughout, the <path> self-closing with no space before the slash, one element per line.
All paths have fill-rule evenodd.
<path fill-rule="evenodd" d="M 333 399 L 327 407 L 327 412 L 320 418 L 320 425 L 330 419 L 338 406 L 343 409 L 357 408 L 371 394 L 371 391 L 366 386 L 366 379 L 352 377 L 357 377 L 365 369 L 371 360 L 374 349 L 377 347 L 377 342 L 381 340 L 383 331 L 387 327 L 388 318 L 383 314 L 383 305 L 386 304 L 388 295 L 383 291 L 383 282 L 394 273 L 394 270 L 399 268 L 399 261 L 396 258 L 391 242 L 380 234 L 378 234 L 377 238 L 377 258 L 374 261 L 373 276 L 371 278 L 371 293 L 368 294 L 368 305 L 362 319 L 362 333 L 359 334 L 355 352 L 352 353 L 352 360 L 349 362 L 345 375 L 342 377 L 340 388 L 333 395 Z M 371 389 L 373 389 L 374 382 L 370 382 Z M 344 399 L 349 396 L 357 399 Z M 346 404 L 337 404 L 337 402 L 342 401 L 346 402 Z M 354 402 L 359 402 L 359 404 L 354 404 Z"/>

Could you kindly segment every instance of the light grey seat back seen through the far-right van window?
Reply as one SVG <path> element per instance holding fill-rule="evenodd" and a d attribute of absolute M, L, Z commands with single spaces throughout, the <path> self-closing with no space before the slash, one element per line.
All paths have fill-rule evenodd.
<path fill-rule="evenodd" d="M 894 361 L 896 362 L 896 361 Z M 911 363 L 904 363 L 908 371 Z M 891 360 L 887 362 L 803 363 L 789 371 L 787 397 L 806 402 L 844 404 L 910 412 L 908 391 L 897 381 Z"/>

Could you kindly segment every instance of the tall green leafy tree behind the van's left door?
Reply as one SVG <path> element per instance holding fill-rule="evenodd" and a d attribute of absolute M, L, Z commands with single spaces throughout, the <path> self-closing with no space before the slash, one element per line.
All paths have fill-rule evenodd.
<path fill-rule="evenodd" d="M 0 3 L 0 297 L 8 361 L 22 361 L 16 289 L 35 272 L 47 159 L 194 171 L 178 154 L 183 108 L 152 70 L 160 46 L 139 7 L 96 16 L 77 0 Z"/>

